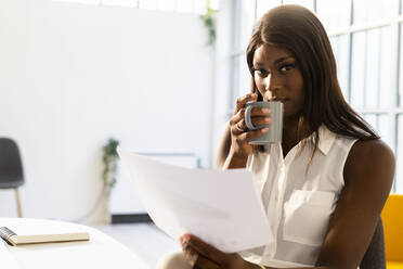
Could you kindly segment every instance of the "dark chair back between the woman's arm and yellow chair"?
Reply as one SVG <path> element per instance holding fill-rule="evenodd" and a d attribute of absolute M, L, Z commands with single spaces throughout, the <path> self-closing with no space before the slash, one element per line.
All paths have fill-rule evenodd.
<path fill-rule="evenodd" d="M 381 218 L 379 218 L 369 246 L 361 260 L 360 269 L 386 269 L 385 235 Z"/>

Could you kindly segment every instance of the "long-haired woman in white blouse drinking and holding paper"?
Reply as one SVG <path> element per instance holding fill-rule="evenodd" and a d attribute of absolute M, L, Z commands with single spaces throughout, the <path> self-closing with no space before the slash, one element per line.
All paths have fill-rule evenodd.
<path fill-rule="evenodd" d="M 346 103 L 326 31 L 309 10 L 268 12 L 247 63 L 252 90 L 236 102 L 217 163 L 255 174 L 275 240 L 227 254 L 184 234 L 183 255 L 165 268 L 358 268 L 392 185 L 393 153 Z M 284 103 L 281 144 L 248 143 L 268 130 L 246 129 L 244 105 L 257 100 Z M 270 128 L 270 111 L 251 115 Z"/>

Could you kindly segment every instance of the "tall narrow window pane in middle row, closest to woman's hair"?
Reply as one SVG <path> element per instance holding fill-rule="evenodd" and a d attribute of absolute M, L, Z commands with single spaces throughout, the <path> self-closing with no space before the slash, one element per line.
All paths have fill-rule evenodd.
<path fill-rule="evenodd" d="M 353 34 L 350 103 L 354 108 L 363 107 L 365 79 L 365 31 Z"/>

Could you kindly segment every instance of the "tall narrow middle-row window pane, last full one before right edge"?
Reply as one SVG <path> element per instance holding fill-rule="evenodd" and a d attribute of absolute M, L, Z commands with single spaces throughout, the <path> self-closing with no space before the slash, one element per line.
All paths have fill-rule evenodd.
<path fill-rule="evenodd" d="M 393 65 L 396 64 L 395 59 L 392 59 L 393 43 L 391 27 L 382 27 L 380 30 L 380 91 L 379 105 L 382 107 L 391 107 L 395 105 L 396 90 L 393 88 L 393 81 L 396 80 L 394 76 Z"/>

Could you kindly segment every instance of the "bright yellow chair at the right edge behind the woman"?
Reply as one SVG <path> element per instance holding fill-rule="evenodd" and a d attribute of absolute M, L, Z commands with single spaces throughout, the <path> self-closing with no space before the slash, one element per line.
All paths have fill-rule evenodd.
<path fill-rule="evenodd" d="M 390 194 L 381 217 L 387 269 L 403 269 L 403 195 Z"/>

